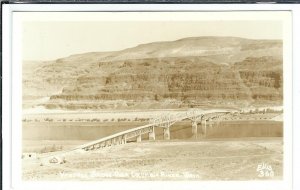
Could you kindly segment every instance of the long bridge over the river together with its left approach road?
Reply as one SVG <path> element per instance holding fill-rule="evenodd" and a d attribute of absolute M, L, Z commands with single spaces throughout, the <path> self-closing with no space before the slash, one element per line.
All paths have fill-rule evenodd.
<path fill-rule="evenodd" d="M 136 138 L 136 142 L 142 141 L 142 135 L 147 134 L 149 135 L 149 140 L 155 140 L 155 127 L 163 128 L 164 132 L 164 139 L 170 140 L 170 127 L 182 120 L 189 119 L 192 122 L 192 134 L 194 137 L 197 137 L 198 132 L 198 123 L 201 124 L 202 131 L 205 135 L 206 133 L 206 121 L 209 121 L 214 118 L 221 117 L 225 114 L 231 113 L 228 110 L 211 110 L 211 111 L 203 111 L 203 110 L 188 110 L 185 113 L 180 114 L 168 114 L 168 115 L 161 115 L 158 118 L 150 120 L 150 123 L 144 126 L 132 128 L 129 130 L 125 130 L 119 133 L 115 133 L 113 135 L 91 141 L 89 143 L 77 146 L 73 149 L 60 151 L 55 153 L 55 155 L 63 155 L 65 153 L 69 153 L 75 150 L 96 150 L 101 149 L 109 146 L 119 145 L 119 144 L 126 144 L 128 139 Z M 53 154 L 43 154 L 40 158 L 49 158 L 49 156 L 53 156 Z"/>

